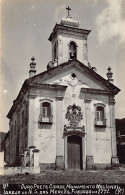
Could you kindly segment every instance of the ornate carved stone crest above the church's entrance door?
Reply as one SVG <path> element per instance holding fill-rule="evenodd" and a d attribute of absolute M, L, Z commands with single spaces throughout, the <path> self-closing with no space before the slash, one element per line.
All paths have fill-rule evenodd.
<path fill-rule="evenodd" d="M 79 127 L 79 122 L 83 119 L 83 115 L 81 113 L 81 108 L 73 104 L 73 106 L 68 106 L 67 113 L 65 117 L 70 121 L 70 126 L 64 125 L 64 131 L 66 132 L 68 129 L 72 130 L 82 130 L 85 131 L 84 126 Z"/>

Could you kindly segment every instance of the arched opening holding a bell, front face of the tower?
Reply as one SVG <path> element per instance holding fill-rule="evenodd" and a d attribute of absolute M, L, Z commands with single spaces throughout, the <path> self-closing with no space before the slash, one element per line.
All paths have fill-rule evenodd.
<path fill-rule="evenodd" d="M 70 59 L 76 59 L 77 58 L 77 46 L 74 41 L 70 42 L 69 45 L 69 57 Z"/>

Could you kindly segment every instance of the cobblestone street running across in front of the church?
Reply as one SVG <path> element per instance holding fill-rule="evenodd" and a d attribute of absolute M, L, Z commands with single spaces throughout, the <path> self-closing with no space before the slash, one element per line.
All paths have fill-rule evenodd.
<path fill-rule="evenodd" d="M 44 171 L 39 175 L 0 176 L 0 180 L 2 184 L 125 184 L 125 170 Z"/>

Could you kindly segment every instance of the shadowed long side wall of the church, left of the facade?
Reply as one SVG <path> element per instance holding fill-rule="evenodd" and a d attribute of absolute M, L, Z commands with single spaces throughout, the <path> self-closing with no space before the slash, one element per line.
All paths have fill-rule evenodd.
<path fill-rule="evenodd" d="M 10 165 L 20 164 L 20 155 L 27 147 L 28 97 L 18 102 L 10 117 Z"/>

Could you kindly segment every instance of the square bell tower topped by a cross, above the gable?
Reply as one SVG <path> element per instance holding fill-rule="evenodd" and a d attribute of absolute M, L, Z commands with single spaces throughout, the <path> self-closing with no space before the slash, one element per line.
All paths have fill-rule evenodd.
<path fill-rule="evenodd" d="M 52 63 L 54 66 L 78 59 L 88 66 L 87 37 L 90 30 L 80 29 L 80 22 L 70 16 L 70 8 L 66 8 L 68 15 L 56 24 L 50 34 L 52 43 Z"/>

